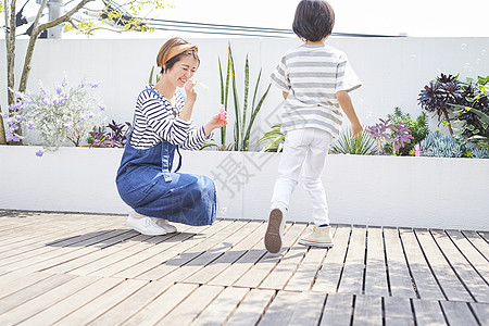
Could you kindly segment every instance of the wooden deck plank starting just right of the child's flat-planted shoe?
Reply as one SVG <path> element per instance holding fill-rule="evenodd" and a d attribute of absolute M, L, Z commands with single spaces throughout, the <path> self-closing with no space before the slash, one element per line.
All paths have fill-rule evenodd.
<path fill-rule="evenodd" d="M 312 287 L 313 291 L 323 291 L 326 293 L 335 293 L 337 291 L 343 271 L 350 234 L 350 226 L 341 225 L 337 227 L 335 233 L 335 247 L 329 249 L 326 254 L 323 266 L 319 273 L 317 273 L 316 281 Z"/>

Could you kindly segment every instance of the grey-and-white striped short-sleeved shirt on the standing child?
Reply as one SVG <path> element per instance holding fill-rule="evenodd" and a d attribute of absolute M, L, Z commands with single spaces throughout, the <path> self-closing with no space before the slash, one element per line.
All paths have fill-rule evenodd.
<path fill-rule="evenodd" d="M 333 138 L 338 137 L 343 116 L 336 92 L 362 86 L 347 55 L 325 45 L 302 45 L 287 51 L 271 79 L 289 92 L 281 115 L 283 133 L 319 128 Z"/>

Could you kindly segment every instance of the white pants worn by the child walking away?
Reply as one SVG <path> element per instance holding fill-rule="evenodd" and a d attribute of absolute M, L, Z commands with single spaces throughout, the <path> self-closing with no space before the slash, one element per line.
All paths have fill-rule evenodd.
<path fill-rule="evenodd" d="M 329 224 L 326 191 L 321 177 L 328 153 L 331 136 L 321 129 L 304 128 L 288 131 L 278 165 L 272 206 L 277 202 L 289 206 L 290 195 L 297 186 L 302 167 L 304 189 L 312 201 L 312 217 L 315 225 Z"/>

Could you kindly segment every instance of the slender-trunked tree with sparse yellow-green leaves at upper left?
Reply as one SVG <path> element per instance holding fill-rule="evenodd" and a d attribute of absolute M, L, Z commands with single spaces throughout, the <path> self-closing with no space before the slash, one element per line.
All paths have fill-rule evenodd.
<path fill-rule="evenodd" d="M 3 2 L 4 1 L 4 2 Z M 100 3 L 99 8 L 88 8 L 89 3 Z M 149 32 L 152 28 L 145 23 L 145 20 L 138 18 L 139 14 L 147 9 L 161 9 L 164 7 L 163 0 L 129 0 L 125 7 L 121 7 L 112 0 L 75 0 L 70 9 L 60 17 L 40 23 L 41 15 L 48 0 L 42 0 L 33 25 L 29 27 L 30 37 L 24 58 L 24 65 L 18 84 L 18 91 L 24 92 L 27 87 L 28 76 L 32 70 L 32 61 L 36 41 L 42 32 L 55 27 L 60 24 L 67 24 L 65 29 L 76 29 L 85 35 L 92 35 L 97 29 L 110 29 L 122 33 L 127 30 Z M 82 9 L 87 10 L 97 20 L 87 18 L 76 20 L 75 14 Z M 0 13 L 4 11 L 5 17 L 5 45 L 7 45 L 7 87 L 8 87 L 8 104 L 14 104 L 15 97 L 15 32 L 16 32 L 16 0 L 0 0 Z M 1 109 L 1 108 L 0 108 Z M 1 110 L 0 110 L 1 111 Z M 0 145 L 5 143 L 5 129 L 3 118 L 0 117 Z"/>

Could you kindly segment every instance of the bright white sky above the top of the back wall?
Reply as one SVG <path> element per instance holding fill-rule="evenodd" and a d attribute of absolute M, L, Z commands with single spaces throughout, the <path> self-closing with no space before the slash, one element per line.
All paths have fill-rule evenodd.
<path fill-rule="evenodd" d="M 66 2 L 67 0 L 65 0 Z M 163 0 L 171 8 L 152 17 L 195 23 L 291 28 L 299 0 Z M 76 1 L 77 2 L 77 1 Z M 116 0 L 117 3 L 126 1 Z M 406 35 L 413 37 L 489 37 L 489 0 L 329 0 L 336 13 L 335 33 Z M 17 1 L 17 8 L 24 0 Z M 27 14 L 35 15 L 30 0 Z M 0 17 L 0 24 L 3 14 Z M 3 24 L 1 24 L 3 25 Z M 149 37 L 158 37 L 153 33 Z M 122 37 L 101 33 L 101 37 Z M 197 34 L 195 37 L 206 37 Z M 74 33 L 64 38 L 76 38 Z M 294 37 L 294 35 L 291 35 Z"/>

